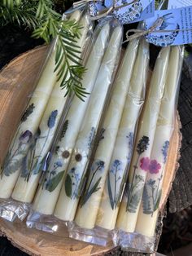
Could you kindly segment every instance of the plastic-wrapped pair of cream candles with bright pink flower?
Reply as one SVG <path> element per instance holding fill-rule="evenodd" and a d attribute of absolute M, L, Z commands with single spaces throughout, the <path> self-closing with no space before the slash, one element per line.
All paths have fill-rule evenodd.
<path fill-rule="evenodd" d="M 161 50 L 155 65 L 151 86 L 156 87 L 160 98 L 151 94 L 151 87 L 116 223 L 118 232 L 114 241 L 123 249 L 152 253 L 155 248 L 155 227 L 164 175 L 168 171 L 168 146 L 176 120 L 182 62 L 183 47 L 171 46 Z M 146 117 L 153 121 L 152 126 Z"/>

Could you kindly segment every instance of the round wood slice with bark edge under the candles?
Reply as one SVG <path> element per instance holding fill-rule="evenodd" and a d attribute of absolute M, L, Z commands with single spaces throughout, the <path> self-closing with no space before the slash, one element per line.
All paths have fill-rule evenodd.
<path fill-rule="evenodd" d="M 32 93 L 38 70 L 46 52 L 46 46 L 28 51 L 11 61 L 0 73 L 0 164 L 6 156 L 11 137 Z M 160 209 L 164 208 L 172 181 L 177 169 L 181 144 L 180 121 L 177 117 L 176 128 L 169 148 L 167 175 L 164 179 L 163 196 Z M 12 243 L 31 255 L 98 255 L 112 249 L 112 246 L 100 247 L 68 238 L 68 234 L 56 236 L 25 227 L 25 223 L 8 223 L 0 219 L 0 233 L 6 235 Z"/>

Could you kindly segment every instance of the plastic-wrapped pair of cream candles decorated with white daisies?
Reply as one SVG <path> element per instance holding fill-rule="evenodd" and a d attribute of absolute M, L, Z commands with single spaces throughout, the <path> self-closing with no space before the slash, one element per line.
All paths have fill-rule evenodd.
<path fill-rule="evenodd" d="M 107 18 L 98 24 L 94 32 L 92 50 L 85 64 L 88 70 L 85 73 L 84 86 L 89 88 L 90 95 L 85 102 L 76 99 L 72 101 L 63 123 L 62 138 L 55 143 L 44 182 L 37 192 L 33 210 L 28 216 L 28 227 L 39 228 L 42 223 L 42 229 L 45 229 L 42 221 L 37 224 L 37 213 L 41 214 L 41 220 L 46 219 L 47 214 L 54 214 L 63 221 L 73 220 L 85 183 L 95 137 L 116 74 L 121 42 L 122 27 L 116 20 Z M 52 180 L 55 179 L 56 183 L 54 186 L 50 183 L 53 170 L 55 174 Z"/>

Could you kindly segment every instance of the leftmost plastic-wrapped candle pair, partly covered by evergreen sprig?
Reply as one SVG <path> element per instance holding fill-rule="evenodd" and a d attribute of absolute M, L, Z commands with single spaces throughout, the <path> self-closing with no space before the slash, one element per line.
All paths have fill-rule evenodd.
<path fill-rule="evenodd" d="M 82 14 L 82 11 L 74 11 L 69 17 L 82 26 L 81 37 L 76 42 L 80 52 L 87 46 L 92 27 L 89 15 Z M 4 162 L 0 179 L 1 216 L 8 216 L 9 210 L 10 216 L 20 219 L 28 214 L 28 205 L 33 201 L 39 179 L 45 169 L 47 153 L 57 135 L 59 123 L 68 109 L 70 98 L 65 97 L 67 90 L 60 87 L 63 76 L 58 80 L 55 72 L 55 44 L 56 42 L 53 42 L 48 60 L 21 117 Z M 8 219 L 12 221 L 14 218 Z"/>

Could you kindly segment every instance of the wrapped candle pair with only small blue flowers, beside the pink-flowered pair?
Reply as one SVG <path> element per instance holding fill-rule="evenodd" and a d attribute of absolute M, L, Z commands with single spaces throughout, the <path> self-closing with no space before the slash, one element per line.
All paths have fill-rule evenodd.
<path fill-rule="evenodd" d="M 149 46 L 145 39 L 129 42 L 75 222 L 69 225 L 70 237 L 98 245 L 111 240 L 110 231 L 116 224 L 137 120 L 145 99 L 148 61 Z"/>

